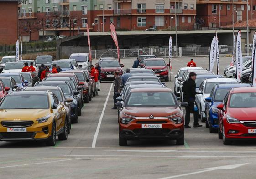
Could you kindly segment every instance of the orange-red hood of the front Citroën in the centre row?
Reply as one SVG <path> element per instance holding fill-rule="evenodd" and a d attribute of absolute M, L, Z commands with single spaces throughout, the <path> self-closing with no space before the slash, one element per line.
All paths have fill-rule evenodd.
<path fill-rule="evenodd" d="M 136 117 L 165 117 L 179 113 L 179 107 L 125 107 L 123 113 Z"/>

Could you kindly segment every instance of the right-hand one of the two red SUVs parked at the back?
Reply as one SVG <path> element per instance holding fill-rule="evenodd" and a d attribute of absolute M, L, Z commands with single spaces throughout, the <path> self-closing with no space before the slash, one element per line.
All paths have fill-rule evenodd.
<path fill-rule="evenodd" d="M 160 77 L 166 82 L 169 81 L 169 70 L 167 66 L 170 66 L 170 64 L 166 65 L 164 59 L 148 58 L 143 61 L 143 64 L 141 66 L 145 69 L 152 69 L 157 77 Z"/>

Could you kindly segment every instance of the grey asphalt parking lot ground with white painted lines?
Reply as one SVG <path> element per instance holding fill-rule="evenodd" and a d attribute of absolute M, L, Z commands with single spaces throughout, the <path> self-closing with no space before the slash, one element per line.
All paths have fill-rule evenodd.
<path fill-rule="evenodd" d="M 171 82 L 189 57 L 172 59 Z M 220 57 L 220 74 L 230 57 Z M 122 59 L 130 68 L 134 59 Z M 168 61 L 168 59 L 166 59 Z M 93 61 L 95 64 L 97 61 Z M 194 58 L 209 69 L 209 57 Z M 216 72 L 216 65 L 214 72 Z M 256 143 L 225 146 L 209 129 L 185 129 L 185 145 L 175 141 L 128 141 L 118 144 L 113 84 L 101 83 L 99 96 L 85 104 L 68 140 L 55 147 L 40 142 L 0 142 L 0 175 L 9 179 L 254 179 Z M 193 123 L 193 115 L 191 118 Z M 6 177 L 7 178 L 7 177 Z"/>

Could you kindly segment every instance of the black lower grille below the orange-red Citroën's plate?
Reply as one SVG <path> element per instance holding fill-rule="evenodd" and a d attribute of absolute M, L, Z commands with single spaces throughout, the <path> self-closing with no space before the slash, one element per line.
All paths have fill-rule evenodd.
<path fill-rule="evenodd" d="M 138 136 L 154 135 L 154 136 L 166 136 L 170 132 L 169 129 L 154 128 L 154 129 L 134 129 L 133 132 Z"/>

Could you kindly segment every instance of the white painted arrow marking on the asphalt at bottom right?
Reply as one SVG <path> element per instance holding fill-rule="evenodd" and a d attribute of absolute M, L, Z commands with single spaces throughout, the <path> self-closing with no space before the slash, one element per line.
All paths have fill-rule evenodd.
<path fill-rule="evenodd" d="M 179 175 L 174 175 L 174 176 L 164 177 L 164 178 L 158 178 L 158 179 L 174 179 L 174 178 L 184 177 L 184 176 L 193 175 L 193 174 L 200 174 L 200 173 L 204 173 L 204 172 L 210 172 L 210 171 L 214 171 L 214 170 L 235 169 L 235 168 L 241 167 L 243 165 L 247 165 L 247 164 L 250 164 L 250 163 L 212 167 L 212 168 L 208 168 L 208 169 L 201 169 L 202 171 L 198 171 L 198 172 L 192 172 L 192 173 L 188 173 L 188 174 L 179 174 Z"/>

